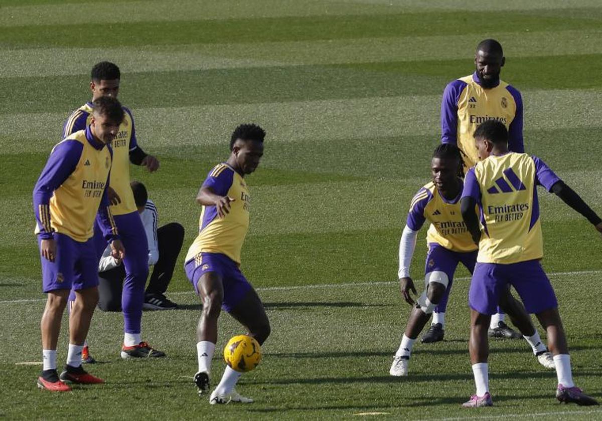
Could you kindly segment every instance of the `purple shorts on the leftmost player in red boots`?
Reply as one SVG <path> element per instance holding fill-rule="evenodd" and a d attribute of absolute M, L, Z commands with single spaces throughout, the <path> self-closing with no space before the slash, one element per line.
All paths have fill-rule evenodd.
<path fill-rule="evenodd" d="M 98 286 L 98 259 L 91 239 L 75 241 L 68 235 L 54 233 L 57 256 L 54 262 L 42 260 L 42 290 L 85 289 Z M 38 236 L 38 246 L 42 239 Z"/>

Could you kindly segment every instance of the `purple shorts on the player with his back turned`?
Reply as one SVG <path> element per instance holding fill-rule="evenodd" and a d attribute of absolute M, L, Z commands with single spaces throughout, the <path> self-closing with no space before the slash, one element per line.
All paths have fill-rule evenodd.
<path fill-rule="evenodd" d="M 468 304 L 481 314 L 495 314 L 500 294 L 508 284 L 517 290 L 527 313 L 537 314 L 558 307 L 554 289 L 539 260 L 509 265 L 477 263 L 470 282 Z"/>

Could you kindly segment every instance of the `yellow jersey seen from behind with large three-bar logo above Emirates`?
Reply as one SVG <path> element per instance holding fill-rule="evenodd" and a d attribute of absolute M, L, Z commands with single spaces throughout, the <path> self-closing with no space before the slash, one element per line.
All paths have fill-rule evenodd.
<path fill-rule="evenodd" d="M 544 256 L 536 185 L 548 191 L 560 179 L 526 153 L 489 156 L 468 171 L 462 197 L 480 207 L 477 262 L 518 263 Z"/>

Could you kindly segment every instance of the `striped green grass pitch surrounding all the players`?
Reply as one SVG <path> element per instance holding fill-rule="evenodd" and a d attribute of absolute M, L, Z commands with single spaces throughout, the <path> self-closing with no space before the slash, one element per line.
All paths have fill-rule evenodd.
<path fill-rule="evenodd" d="M 429 180 L 441 93 L 473 70 L 474 47 L 501 41 L 502 78 L 522 93 L 528 152 L 602 212 L 602 6 L 597 0 L 2 0 L 0 1 L 0 418 L 602 419 L 559 405 L 556 375 L 524 341 L 491 342 L 495 407 L 462 410 L 468 278 L 458 272 L 445 342 L 414 348 L 410 376 L 388 375 L 409 307 L 397 246 L 414 192 Z M 107 380 L 40 391 L 40 261 L 31 190 L 64 119 L 89 99 L 100 60 L 122 69 L 120 100 L 158 173 L 132 167 L 163 223 L 194 238 L 194 196 L 228 155 L 238 124 L 266 129 L 249 176 L 252 221 L 243 270 L 272 321 L 258 369 L 238 390 L 251 405 L 211 407 L 192 384 L 200 302 L 182 269 L 181 309 L 145 312 L 161 361 L 122 361 L 122 318 L 96 312 L 89 340 Z M 544 265 L 568 332 L 577 384 L 602 398 L 602 242 L 580 215 L 539 192 Z M 420 284 L 424 231 L 412 265 Z M 66 321 L 66 318 L 64 319 Z M 66 324 L 58 361 L 66 358 Z M 541 331 L 541 328 L 540 328 Z M 241 333 L 220 319 L 220 350 Z M 369 414 L 360 416 L 359 414 Z"/>

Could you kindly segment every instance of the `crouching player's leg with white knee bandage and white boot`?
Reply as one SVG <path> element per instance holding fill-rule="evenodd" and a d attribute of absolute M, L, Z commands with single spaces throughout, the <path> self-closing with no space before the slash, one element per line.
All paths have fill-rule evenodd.
<path fill-rule="evenodd" d="M 442 274 L 442 272 L 438 272 Z M 444 274 L 443 274 L 444 275 Z M 447 275 L 445 275 L 447 280 Z M 424 329 L 424 325 L 429 321 L 433 309 L 437 306 L 445 293 L 447 283 L 439 281 L 429 282 L 426 292 L 418 298 L 418 303 L 412 308 L 406 330 L 402 337 L 399 349 L 393 358 L 393 364 L 389 369 L 389 374 L 392 376 L 407 376 L 408 375 L 408 360 L 412 353 L 412 346 L 420 332 Z"/>

